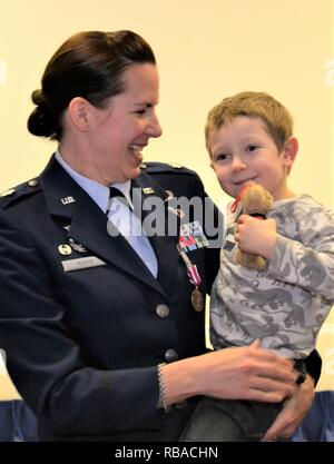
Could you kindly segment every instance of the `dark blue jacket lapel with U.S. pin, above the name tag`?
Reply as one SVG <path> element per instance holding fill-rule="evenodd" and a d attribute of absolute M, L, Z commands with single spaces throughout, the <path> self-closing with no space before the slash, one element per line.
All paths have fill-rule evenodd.
<path fill-rule="evenodd" d="M 84 245 L 102 260 L 111 263 L 164 294 L 159 283 L 127 240 L 120 235 L 108 235 L 104 211 L 72 180 L 55 157 L 41 174 L 40 184 L 50 214 L 68 219 L 68 237 Z"/>

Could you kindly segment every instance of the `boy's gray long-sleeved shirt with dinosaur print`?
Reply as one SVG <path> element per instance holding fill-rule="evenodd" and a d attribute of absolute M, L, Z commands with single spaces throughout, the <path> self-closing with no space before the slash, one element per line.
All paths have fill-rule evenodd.
<path fill-rule="evenodd" d="M 248 345 L 304 358 L 334 303 L 334 213 L 302 195 L 275 201 L 267 217 L 277 224 L 273 258 L 263 272 L 234 264 L 234 225 L 220 251 L 212 290 L 213 346 Z"/>

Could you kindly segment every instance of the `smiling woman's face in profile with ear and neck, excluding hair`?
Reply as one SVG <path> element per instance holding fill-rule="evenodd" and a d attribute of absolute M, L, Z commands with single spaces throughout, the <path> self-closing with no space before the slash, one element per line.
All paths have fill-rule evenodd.
<path fill-rule="evenodd" d="M 150 137 L 161 134 L 155 113 L 156 67 L 132 65 L 124 71 L 122 81 L 124 91 L 104 101 L 102 108 L 76 97 L 62 118 L 62 158 L 82 176 L 106 186 L 137 177 L 140 151 Z"/>

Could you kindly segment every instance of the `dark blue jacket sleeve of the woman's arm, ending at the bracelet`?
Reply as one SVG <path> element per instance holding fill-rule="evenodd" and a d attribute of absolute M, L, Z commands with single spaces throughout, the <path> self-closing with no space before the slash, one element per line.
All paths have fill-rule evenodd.
<path fill-rule="evenodd" d="M 160 426 L 155 367 L 102 371 L 85 364 L 61 298 L 33 240 L 0 215 L 0 346 L 19 393 L 58 434 Z M 131 412 L 131 413 L 129 413 Z"/>

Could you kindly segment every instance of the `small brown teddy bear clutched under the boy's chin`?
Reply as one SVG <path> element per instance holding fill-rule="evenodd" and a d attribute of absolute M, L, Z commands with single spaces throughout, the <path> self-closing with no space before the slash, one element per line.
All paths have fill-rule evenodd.
<path fill-rule="evenodd" d="M 265 219 L 274 200 L 272 195 L 259 184 L 247 184 L 236 201 L 240 203 L 243 214 L 254 216 L 258 219 Z M 237 248 L 235 263 L 252 269 L 263 270 L 266 265 L 266 259 L 259 255 L 253 255 Z"/>

